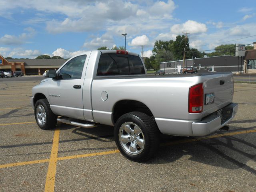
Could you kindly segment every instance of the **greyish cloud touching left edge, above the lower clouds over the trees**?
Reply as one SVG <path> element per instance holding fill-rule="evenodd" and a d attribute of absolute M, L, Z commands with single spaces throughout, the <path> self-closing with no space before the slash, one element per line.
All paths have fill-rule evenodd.
<path fill-rule="evenodd" d="M 4 45 L 24 44 L 27 39 L 32 38 L 36 33 L 36 31 L 31 27 L 25 28 L 24 31 L 26 31 L 26 33 L 22 33 L 18 36 L 5 34 L 0 38 L 0 43 Z"/>

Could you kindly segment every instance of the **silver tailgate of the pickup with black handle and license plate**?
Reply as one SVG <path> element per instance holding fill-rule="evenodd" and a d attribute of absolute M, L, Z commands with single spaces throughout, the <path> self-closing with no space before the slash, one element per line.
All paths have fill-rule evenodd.
<path fill-rule="evenodd" d="M 234 94 L 232 73 L 202 76 L 204 82 L 204 115 L 230 104 Z"/>

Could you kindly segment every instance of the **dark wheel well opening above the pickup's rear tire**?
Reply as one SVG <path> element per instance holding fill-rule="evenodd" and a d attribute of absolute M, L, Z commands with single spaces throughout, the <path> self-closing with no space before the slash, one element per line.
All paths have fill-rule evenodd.
<path fill-rule="evenodd" d="M 136 100 L 120 100 L 116 102 L 113 108 L 113 122 L 114 124 L 120 116 L 123 114 L 138 111 L 147 114 L 150 117 L 154 117 L 151 110 L 144 103 Z"/>

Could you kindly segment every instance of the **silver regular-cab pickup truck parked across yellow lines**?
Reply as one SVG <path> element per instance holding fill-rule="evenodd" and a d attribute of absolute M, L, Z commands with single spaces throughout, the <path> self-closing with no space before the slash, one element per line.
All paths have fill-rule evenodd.
<path fill-rule="evenodd" d="M 147 76 L 140 56 L 126 51 L 84 52 L 47 77 L 32 89 L 40 128 L 114 126 L 118 149 L 134 161 L 156 152 L 160 134 L 204 136 L 238 110 L 232 73 Z"/>

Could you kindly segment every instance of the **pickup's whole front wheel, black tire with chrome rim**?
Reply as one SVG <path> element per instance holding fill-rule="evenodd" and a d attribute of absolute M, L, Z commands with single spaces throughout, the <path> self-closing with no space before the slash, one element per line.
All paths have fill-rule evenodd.
<path fill-rule="evenodd" d="M 57 116 L 52 112 L 47 99 L 40 99 L 36 102 L 34 115 L 41 129 L 48 130 L 56 126 Z"/>

